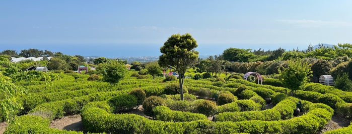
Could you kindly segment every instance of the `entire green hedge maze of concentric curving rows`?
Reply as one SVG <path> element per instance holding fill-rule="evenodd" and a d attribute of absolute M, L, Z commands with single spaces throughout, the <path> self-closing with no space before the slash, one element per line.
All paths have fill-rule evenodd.
<path fill-rule="evenodd" d="M 29 93 L 5 133 L 83 133 L 49 127 L 53 119 L 72 114 L 81 114 L 85 133 L 316 133 L 333 114 L 352 116 L 352 92 L 319 83 L 308 83 L 289 96 L 289 89 L 273 78 L 264 78 L 264 84 L 187 78 L 185 100 L 180 100 L 178 82 L 162 82 L 163 77 L 126 76 L 111 86 L 87 80 L 87 74 L 59 75 L 60 80 L 50 83 L 16 83 Z M 265 108 L 268 97 L 272 108 Z M 304 113 L 293 116 L 299 100 Z M 126 113 L 140 104 L 150 117 Z M 350 131 L 351 125 L 326 133 Z"/>

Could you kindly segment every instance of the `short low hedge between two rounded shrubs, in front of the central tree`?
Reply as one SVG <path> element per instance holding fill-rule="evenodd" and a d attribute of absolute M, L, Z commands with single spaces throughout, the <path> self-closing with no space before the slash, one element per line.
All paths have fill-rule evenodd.
<path fill-rule="evenodd" d="M 188 111 L 171 110 L 166 106 L 157 106 L 153 110 L 156 119 L 171 122 L 184 122 L 192 120 L 207 119 L 204 114 L 192 113 Z"/>

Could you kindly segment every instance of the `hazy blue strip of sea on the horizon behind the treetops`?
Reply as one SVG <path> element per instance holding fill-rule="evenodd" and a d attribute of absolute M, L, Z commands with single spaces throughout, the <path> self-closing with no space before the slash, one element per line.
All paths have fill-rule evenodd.
<path fill-rule="evenodd" d="M 14 49 L 20 53 L 23 49 L 36 48 L 62 52 L 68 55 L 104 56 L 104 57 L 134 57 L 134 56 L 159 56 L 161 44 L 1 44 L 0 51 Z M 307 49 L 308 44 L 199 44 L 196 48 L 199 55 L 219 55 L 227 48 L 245 48 L 257 50 L 275 50 L 279 47 L 286 50 L 299 48 Z"/>

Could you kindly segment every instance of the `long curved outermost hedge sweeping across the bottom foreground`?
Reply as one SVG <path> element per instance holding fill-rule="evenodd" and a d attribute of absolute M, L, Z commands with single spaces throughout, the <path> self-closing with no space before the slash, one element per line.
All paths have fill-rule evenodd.
<path fill-rule="evenodd" d="M 107 133 L 315 133 L 332 116 L 323 108 L 288 120 L 217 121 L 195 120 L 165 122 L 150 120 L 136 114 L 110 114 L 100 108 L 87 108 L 81 113 L 87 130 Z"/>

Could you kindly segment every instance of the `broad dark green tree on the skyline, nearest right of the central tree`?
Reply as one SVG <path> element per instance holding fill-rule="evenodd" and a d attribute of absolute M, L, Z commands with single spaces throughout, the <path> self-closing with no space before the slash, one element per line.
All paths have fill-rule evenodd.
<path fill-rule="evenodd" d="M 223 52 L 224 60 L 238 61 L 238 62 L 249 62 L 255 58 L 255 55 L 250 52 L 251 49 L 240 49 L 240 48 L 227 48 Z"/>

